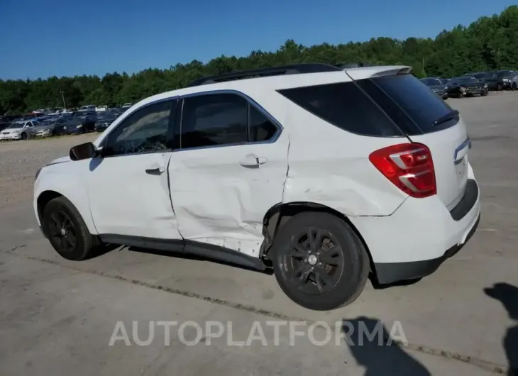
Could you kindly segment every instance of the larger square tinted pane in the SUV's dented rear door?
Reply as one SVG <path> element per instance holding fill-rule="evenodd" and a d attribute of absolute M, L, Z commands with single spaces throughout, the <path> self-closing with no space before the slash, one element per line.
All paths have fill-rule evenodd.
<path fill-rule="evenodd" d="M 236 94 L 184 99 L 181 147 L 228 145 L 248 141 L 248 101 Z"/>

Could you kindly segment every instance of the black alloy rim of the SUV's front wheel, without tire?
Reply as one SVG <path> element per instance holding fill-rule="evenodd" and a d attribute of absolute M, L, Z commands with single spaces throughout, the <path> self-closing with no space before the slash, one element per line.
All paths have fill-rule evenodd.
<path fill-rule="evenodd" d="M 77 247 L 77 232 L 70 216 L 64 209 L 57 209 L 50 214 L 49 219 L 50 243 L 60 254 L 73 253 Z"/>

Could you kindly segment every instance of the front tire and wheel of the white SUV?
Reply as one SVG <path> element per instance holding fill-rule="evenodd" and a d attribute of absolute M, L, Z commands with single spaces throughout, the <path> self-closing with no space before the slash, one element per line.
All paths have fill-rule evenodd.
<path fill-rule="evenodd" d="M 62 258 L 81 261 L 94 255 L 97 240 L 88 231 L 79 211 L 65 197 L 57 197 L 45 205 L 42 222 L 45 235 Z"/>

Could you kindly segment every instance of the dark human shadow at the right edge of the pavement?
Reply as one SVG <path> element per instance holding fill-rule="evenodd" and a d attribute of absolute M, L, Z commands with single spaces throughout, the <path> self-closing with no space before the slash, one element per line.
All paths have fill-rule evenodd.
<path fill-rule="evenodd" d="M 509 318 L 518 321 L 518 287 L 500 282 L 484 289 L 487 296 L 500 300 Z M 509 371 L 507 376 L 518 376 L 518 324 L 507 329 L 503 340 Z"/>

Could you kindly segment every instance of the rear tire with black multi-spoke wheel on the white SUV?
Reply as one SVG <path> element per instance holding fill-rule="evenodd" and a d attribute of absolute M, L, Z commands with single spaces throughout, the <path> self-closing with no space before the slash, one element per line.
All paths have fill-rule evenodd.
<path fill-rule="evenodd" d="M 308 233 L 314 240 L 322 240 L 316 240 L 312 250 L 304 246 Z M 293 302 L 316 311 L 354 302 L 370 271 L 368 253 L 351 226 L 321 212 L 297 214 L 282 225 L 271 254 L 282 291 Z"/>

